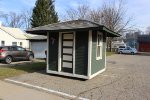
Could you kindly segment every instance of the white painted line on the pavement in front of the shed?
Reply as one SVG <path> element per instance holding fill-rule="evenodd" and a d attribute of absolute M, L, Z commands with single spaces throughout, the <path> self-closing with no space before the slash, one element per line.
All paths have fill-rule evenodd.
<path fill-rule="evenodd" d="M 66 97 L 69 97 L 69 98 L 72 98 L 72 99 L 77 97 L 75 95 L 71 95 L 71 94 L 67 94 L 67 93 L 64 93 L 64 92 L 55 91 L 55 90 L 52 90 L 52 89 L 47 89 L 47 88 L 44 88 L 44 87 L 40 87 L 40 86 L 36 86 L 36 85 L 24 83 L 24 82 L 19 82 L 19 81 L 15 81 L 15 80 L 11 80 L 11 79 L 5 79 L 5 81 L 12 82 L 12 83 L 15 83 L 15 84 L 20 84 L 20 85 L 27 86 L 27 87 L 30 87 L 30 88 L 43 90 L 43 91 L 50 92 L 50 93 L 55 93 L 55 94 L 66 96 Z M 79 100 L 89 100 L 89 99 L 83 98 L 83 97 L 78 97 L 77 99 L 79 99 Z"/>

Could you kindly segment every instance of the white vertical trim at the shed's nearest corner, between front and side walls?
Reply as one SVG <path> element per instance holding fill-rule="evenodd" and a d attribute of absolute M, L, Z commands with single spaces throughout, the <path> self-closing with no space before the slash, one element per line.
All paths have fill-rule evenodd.
<path fill-rule="evenodd" d="M 91 76 L 91 61 L 92 60 L 92 30 L 89 30 L 88 39 L 88 77 Z"/>

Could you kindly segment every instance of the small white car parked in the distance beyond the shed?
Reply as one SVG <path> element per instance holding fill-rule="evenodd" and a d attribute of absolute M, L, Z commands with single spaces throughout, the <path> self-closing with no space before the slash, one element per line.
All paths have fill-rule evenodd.
<path fill-rule="evenodd" d="M 137 50 L 135 48 L 131 48 L 130 46 L 119 46 L 118 48 L 118 53 L 119 54 L 136 54 Z"/>

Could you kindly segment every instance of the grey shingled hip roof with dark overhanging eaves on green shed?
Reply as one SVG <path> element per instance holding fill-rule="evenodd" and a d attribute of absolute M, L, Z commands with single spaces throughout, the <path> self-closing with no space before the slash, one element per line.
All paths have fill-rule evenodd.
<path fill-rule="evenodd" d="M 71 30 L 82 30 L 82 29 L 96 29 L 102 30 L 107 33 L 108 37 L 121 36 L 118 33 L 108 29 L 107 27 L 88 21 L 88 20 L 71 20 L 66 22 L 48 24 L 44 26 L 39 26 L 35 28 L 28 29 L 26 32 L 32 34 L 44 34 L 46 32 L 56 32 L 56 31 L 71 31 Z"/>

